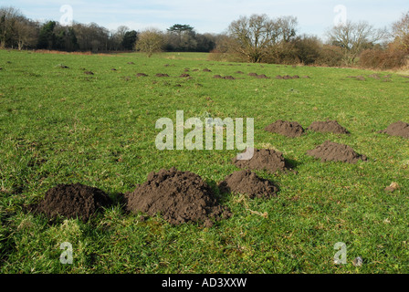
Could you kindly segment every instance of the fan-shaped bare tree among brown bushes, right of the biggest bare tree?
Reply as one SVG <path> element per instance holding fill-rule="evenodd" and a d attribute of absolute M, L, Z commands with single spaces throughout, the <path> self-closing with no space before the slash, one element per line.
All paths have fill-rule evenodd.
<path fill-rule="evenodd" d="M 341 47 L 344 63 L 351 65 L 362 50 L 385 40 L 388 32 L 386 29 L 376 29 L 367 22 L 347 21 L 346 24 L 333 26 L 327 36 L 331 45 Z"/>

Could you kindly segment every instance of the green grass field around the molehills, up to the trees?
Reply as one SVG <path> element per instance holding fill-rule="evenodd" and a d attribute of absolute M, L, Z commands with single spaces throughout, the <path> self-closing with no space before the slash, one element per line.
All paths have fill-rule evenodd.
<path fill-rule="evenodd" d="M 0 50 L 1 273 L 409 272 L 409 141 L 376 133 L 394 121 L 409 122 L 409 79 L 206 57 Z M 179 78 L 184 68 L 192 78 Z M 310 78 L 275 79 L 278 74 Z M 173 166 L 215 187 L 237 170 L 230 162 L 237 151 L 157 150 L 155 121 L 174 120 L 176 110 L 184 110 L 184 119 L 206 112 L 254 118 L 255 147 L 282 151 L 297 173 L 257 172 L 278 185 L 278 197 L 224 195 L 233 215 L 210 228 L 173 226 L 160 216 L 141 221 L 123 213 L 119 203 L 88 223 L 50 223 L 23 212 L 24 204 L 38 202 L 58 183 L 95 186 L 115 198 L 133 191 L 149 172 Z M 327 119 L 338 120 L 351 135 L 308 132 L 289 139 L 264 130 L 276 120 L 297 120 L 307 128 Z M 350 145 L 368 162 L 322 163 L 305 154 L 326 140 Z M 400 188 L 384 192 L 392 182 Z M 63 242 L 73 246 L 71 265 L 59 261 Z M 347 247 L 345 265 L 333 263 L 338 242 Z M 352 265 L 356 256 L 362 256 L 360 267 Z"/>

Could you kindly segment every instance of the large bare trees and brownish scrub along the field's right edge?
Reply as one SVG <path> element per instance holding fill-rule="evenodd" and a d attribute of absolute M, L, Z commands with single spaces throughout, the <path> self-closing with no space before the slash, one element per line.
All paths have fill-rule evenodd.
<path fill-rule="evenodd" d="M 298 35 L 293 16 L 275 19 L 267 15 L 241 16 L 228 26 L 216 43 L 214 60 L 304 64 L 313 66 L 359 66 L 402 68 L 409 56 L 409 12 L 390 29 L 366 22 L 347 21 L 331 27 L 327 40 Z"/>

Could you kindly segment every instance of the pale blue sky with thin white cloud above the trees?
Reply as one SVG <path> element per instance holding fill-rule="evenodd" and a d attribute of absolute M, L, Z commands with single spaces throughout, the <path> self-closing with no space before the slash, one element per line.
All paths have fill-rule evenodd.
<path fill-rule="evenodd" d="M 299 34 L 320 37 L 334 21 L 345 17 L 384 27 L 409 11 L 409 0 L 0 0 L 0 6 L 8 5 L 41 21 L 60 21 L 68 13 L 61 12 L 61 7 L 69 5 L 74 21 L 95 22 L 112 30 L 118 26 L 135 30 L 153 26 L 164 30 L 174 24 L 186 24 L 194 26 L 198 33 L 221 33 L 239 16 L 297 16 Z"/>

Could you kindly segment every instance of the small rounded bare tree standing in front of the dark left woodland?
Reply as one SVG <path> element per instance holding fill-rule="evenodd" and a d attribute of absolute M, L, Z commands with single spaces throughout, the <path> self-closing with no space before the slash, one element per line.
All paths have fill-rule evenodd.
<path fill-rule="evenodd" d="M 163 32 L 156 28 L 148 28 L 139 34 L 135 49 L 146 53 L 148 57 L 152 57 L 153 53 L 162 51 L 163 45 Z"/>

